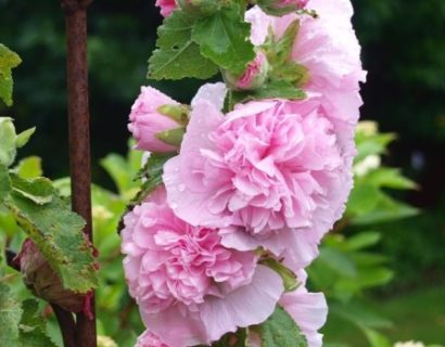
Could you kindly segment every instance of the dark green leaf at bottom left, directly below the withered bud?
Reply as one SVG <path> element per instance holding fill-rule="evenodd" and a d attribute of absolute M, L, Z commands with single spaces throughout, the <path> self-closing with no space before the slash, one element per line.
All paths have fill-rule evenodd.
<path fill-rule="evenodd" d="M 46 333 L 46 321 L 38 311 L 38 301 L 27 299 L 22 304 L 23 316 L 20 322 L 21 347 L 55 347 L 56 345 Z"/>

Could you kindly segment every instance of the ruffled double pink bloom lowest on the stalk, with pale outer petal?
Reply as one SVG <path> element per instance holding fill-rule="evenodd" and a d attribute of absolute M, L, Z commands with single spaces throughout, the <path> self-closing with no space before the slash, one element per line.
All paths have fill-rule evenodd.
<path fill-rule="evenodd" d="M 124 268 L 147 326 L 171 347 L 211 344 L 266 320 L 281 278 L 253 252 L 221 245 L 217 229 L 175 216 L 157 191 L 136 206 L 122 231 Z"/>

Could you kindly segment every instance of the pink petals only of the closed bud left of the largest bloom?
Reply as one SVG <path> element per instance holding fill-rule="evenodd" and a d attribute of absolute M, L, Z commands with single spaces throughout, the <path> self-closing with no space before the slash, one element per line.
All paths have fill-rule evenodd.
<path fill-rule="evenodd" d="M 158 139 L 162 131 L 180 129 L 180 125 L 158 108 L 164 105 L 179 105 L 176 101 L 151 87 L 142 87 L 141 93 L 131 106 L 128 130 L 137 141 L 137 149 L 149 152 L 175 152 L 176 145 Z"/>

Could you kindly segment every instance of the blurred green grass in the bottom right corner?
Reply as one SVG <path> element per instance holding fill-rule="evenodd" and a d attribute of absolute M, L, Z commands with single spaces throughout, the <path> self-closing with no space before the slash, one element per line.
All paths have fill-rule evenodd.
<path fill-rule="evenodd" d="M 392 342 L 420 340 L 427 345 L 445 345 L 445 285 L 395 295 L 372 304 L 376 312 L 393 322 L 392 327 L 381 330 Z M 360 331 L 333 314 L 323 333 L 326 344 L 369 346 Z"/>

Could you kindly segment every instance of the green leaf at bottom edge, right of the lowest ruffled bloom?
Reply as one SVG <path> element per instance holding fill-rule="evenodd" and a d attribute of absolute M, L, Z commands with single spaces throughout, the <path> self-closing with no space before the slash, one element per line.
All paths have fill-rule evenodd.
<path fill-rule="evenodd" d="M 295 321 L 279 306 L 259 329 L 262 347 L 307 347 L 306 338 Z"/>

